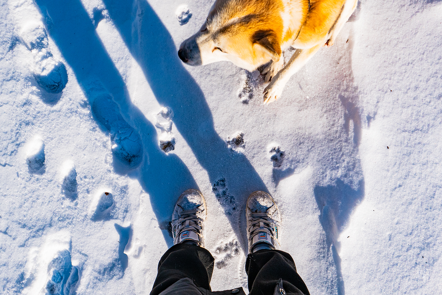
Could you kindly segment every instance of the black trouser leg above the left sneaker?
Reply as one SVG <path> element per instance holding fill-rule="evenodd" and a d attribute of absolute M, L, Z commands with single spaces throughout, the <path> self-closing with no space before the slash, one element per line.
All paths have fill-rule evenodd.
<path fill-rule="evenodd" d="M 182 278 L 190 278 L 197 287 L 210 289 L 215 259 L 202 247 L 176 244 L 169 248 L 158 263 L 158 274 L 150 295 L 158 295 Z"/>

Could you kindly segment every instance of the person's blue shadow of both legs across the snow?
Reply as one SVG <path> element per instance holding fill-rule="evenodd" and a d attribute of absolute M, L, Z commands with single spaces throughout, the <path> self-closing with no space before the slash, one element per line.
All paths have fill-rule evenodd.
<path fill-rule="evenodd" d="M 126 85 L 80 1 L 36 2 L 46 20 L 53 24 L 48 33 L 72 67 L 88 99 L 93 100 L 88 92 L 90 86 L 84 85 L 99 80 L 112 94 L 121 115 L 131 118 L 133 127 L 140 133 L 148 154 L 145 157 L 149 160 L 141 164 L 139 181 L 149 193 L 160 226 L 164 226 L 171 218 L 180 193 L 187 188 L 198 188 L 193 176 L 179 157 L 160 150 L 154 126 L 131 103 Z M 245 218 L 248 195 L 256 190 L 267 192 L 265 184 L 244 154 L 230 150 L 214 130 L 212 114 L 201 89 L 178 59 L 171 35 L 152 7 L 145 0 L 104 0 L 104 3 L 126 46 L 143 69 L 156 99 L 174 111 L 176 128 L 206 169 L 211 184 L 221 180 L 228 188 L 234 201 L 225 202 L 224 195 L 218 194 L 219 201 L 225 212 L 230 212 L 226 216 L 247 252 L 245 230 L 239 230 L 239 218 Z M 99 20 L 100 13 L 96 12 L 94 19 Z M 214 192 L 216 190 L 214 188 Z M 171 239 L 165 239 L 170 246 Z"/>

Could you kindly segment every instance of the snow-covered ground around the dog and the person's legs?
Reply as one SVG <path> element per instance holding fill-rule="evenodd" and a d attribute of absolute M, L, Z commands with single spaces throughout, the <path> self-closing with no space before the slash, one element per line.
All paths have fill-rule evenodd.
<path fill-rule="evenodd" d="M 441 293 L 442 2 L 361 1 L 266 106 L 259 73 L 178 59 L 212 4 L 0 2 L 2 294 L 148 294 L 189 188 L 213 290 L 247 287 L 244 206 L 263 190 L 311 294 Z"/>

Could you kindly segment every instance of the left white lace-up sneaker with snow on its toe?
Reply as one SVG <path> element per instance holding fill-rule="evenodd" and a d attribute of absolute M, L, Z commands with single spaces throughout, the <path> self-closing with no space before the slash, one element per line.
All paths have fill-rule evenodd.
<path fill-rule="evenodd" d="M 204 223 L 206 221 L 206 201 L 196 189 L 183 192 L 172 213 L 173 244 L 190 241 L 204 247 Z"/>

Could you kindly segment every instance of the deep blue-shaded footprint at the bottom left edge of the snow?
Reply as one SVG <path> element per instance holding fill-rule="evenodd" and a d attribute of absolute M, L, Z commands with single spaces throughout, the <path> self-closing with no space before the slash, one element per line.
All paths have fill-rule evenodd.
<path fill-rule="evenodd" d="M 46 295 L 72 295 L 80 280 L 80 273 L 72 265 L 71 253 L 63 250 L 48 265 L 49 280 L 46 283 Z"/>

